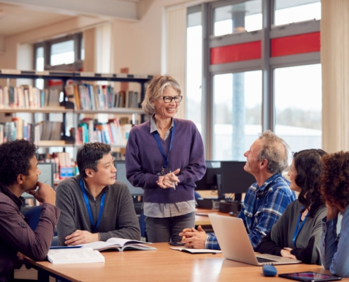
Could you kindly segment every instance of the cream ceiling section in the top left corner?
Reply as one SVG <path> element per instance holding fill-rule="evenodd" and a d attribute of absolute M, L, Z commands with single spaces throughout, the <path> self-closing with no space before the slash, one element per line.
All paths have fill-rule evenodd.
<path fill-rule="evenodd" d="M 137 20 L 140 0 L 0 0 L 0 37 L 78 16 Z"/>

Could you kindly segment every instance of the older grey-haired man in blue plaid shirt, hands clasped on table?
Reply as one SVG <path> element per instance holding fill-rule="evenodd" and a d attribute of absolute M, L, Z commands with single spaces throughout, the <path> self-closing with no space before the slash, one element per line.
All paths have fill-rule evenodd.
<path fill-rule="evenodd" d="M 248 188 L 238 217 L 243 219 L 253 249 L 259 252 L 259 244 L 283 214 L 295 193 L 281 173 L 288 166 L 288 145 L 270 130 L 245 152 L 245 171 L 255 176 L 256 183 Z M 180 233 L 187 247 L 220 250 L 214 233 L 206 234 L 201 226 L 186 228 Z"/>

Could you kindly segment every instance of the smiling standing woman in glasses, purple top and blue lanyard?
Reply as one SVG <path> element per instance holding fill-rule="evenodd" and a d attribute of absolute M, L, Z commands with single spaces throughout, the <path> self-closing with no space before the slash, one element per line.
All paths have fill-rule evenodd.
<path fill-rule="evenodd" d="M 142 102 L 152 117 L 128 136 L 127 178 L 144 189 L 147 238 L 153 243 L 180 240 L 183 228 L 195 226 L 194 183 L 206 171 L 204 145 L 192 121 L 173 117 L 182 98 L 171 76 L 155 77 Z"/>

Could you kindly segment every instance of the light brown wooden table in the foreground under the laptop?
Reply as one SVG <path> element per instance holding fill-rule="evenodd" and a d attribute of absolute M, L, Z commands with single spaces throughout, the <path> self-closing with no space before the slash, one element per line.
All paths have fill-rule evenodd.
<path fill-rule="evenodd" d="M 41 277 L 56 274 L 69 281 L 283 281 L 284 278 L 268 278 L 262 267 L 233 262 L 223 255 L 191 255 L 169 249 L 167 243 L 153 244 L 154 251 L 102 252 L 106 262 L 95 264 L 51 264 L 50 262 L 27 262 L 41 270 Z M 322 266 L 288 264 L 276 266 L 278 274 L 295 271 L 314 271 L 329 274 Z M 349 278 L 343 279 L 349 281 Z"/>

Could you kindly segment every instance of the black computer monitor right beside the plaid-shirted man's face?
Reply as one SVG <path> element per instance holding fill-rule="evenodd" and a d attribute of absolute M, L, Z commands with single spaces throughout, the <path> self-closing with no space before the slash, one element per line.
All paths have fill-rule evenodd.
<path fill-rule="evenodd" d="M 242 194 L 256 182 L 255 177 L 243 169 L 245 164 L 245 161 L 221 161 L 220 197 L 233 193 L 234 200 L 241 201 Z"/>

